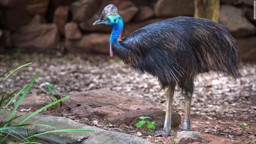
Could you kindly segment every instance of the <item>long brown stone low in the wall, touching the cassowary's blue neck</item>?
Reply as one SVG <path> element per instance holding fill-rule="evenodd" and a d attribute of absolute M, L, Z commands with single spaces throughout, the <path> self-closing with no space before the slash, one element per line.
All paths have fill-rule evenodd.
<path fill-rule="evenodd" d="M 71 53 L 109 53 L 110 34 L 91 33 L 79 40 L 65 40 L 65 47 Z"/>

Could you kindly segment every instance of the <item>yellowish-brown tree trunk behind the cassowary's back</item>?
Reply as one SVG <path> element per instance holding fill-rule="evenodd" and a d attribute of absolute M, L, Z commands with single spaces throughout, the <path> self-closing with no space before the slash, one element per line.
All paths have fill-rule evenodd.
<path fill-rule="evenodd" d="M 218 22 L 220 0 L 195 0 L 194 17 L 206 18 Z"/>

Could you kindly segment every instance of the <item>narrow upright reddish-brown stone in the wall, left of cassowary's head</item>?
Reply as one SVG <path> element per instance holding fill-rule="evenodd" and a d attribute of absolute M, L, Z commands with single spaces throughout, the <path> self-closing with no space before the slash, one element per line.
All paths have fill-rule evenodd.
<path fill-rule="evenodd" d="M 68 21 L 68 6 L 59 6 L 54 12 L 53 22 L 57 25 L 61 35 L 65 35 L 65 24 Z"/>

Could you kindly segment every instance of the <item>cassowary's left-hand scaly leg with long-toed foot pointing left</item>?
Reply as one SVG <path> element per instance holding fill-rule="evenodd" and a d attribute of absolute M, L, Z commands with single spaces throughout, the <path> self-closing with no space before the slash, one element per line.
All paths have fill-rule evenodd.
<path fill-rule="evenodd" d="M 166 113 L 165 113 L 165 121 L 164 128 L 161 131 L 147 132 L 144 135 L 153 135 L 156 136 L 168 136 L 171 135 L 171 116 L 172 116 L 172 98 L 174 94 L 175 86 L 166 86 L 164 88 L 164 93 L 166 95 Z"/>

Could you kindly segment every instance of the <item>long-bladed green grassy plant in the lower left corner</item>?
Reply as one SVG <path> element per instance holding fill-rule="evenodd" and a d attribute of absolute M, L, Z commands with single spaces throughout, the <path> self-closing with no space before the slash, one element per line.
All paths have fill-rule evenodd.
<path fill-rule="evenodd" d="M 0 84 L 0 88 L 2 88 L 2 85 L 4 83 L 4 81 L 10 76 L 12 75 L 16 70 L 25 67 L 25 66 L 29 66 L 31 63 L 22 65 L 18 68 L 16 68 L 17 66 L 14 66 L 12 68 L 10 68 L 9 70 L 7 70 L 6 72 L 4 72 L 2 75 L 0 75 L 0 77 L 3 77 L 5 75 L 7 75 L 7 73 L 9 73 L 5 79 L 2 81 L 2 83 Z M 5 105 L 3 105 L 1 107 L 1 111 L 0 111 L 0 115 L 2 112 L 5 111 L 5 109 L 10 105 L 10 103 L 14 100 L 14 99 L 18 99 L 18 96 L 20 96 L 19 100 L 17 101 L 16 105 L 14 106 L 13 110 L 10 112 L 10 115 L 8 116 L 7 120 L 3 123 L 0 123 L 0 144 L 2 144 L 4 142 L 4 140 L 10 136 L 10 137 L 15 137 L 17 139 L 19 139 L 20 141 L 17 143 L 36 143 L 36 142 L 32 142 L 33 138 L 37 135 L 41 135 L 41 134 L 45 134 L 45 133 L 51 133 L 51 132 L 93 132 L 94 130 L 82 130 L 82 129 L 62 129 L 62 130 L 52 130 L 52 131 L 46 131 L 46 132 L 42 132 L 42 133 L 38 133 L 35 134 L 34 132 L 30 132 L 30 129 L 27 129 L 27 138 L 25 138 L 24 136 L 22 136 L 21 134 L 15 132 L 15 129 L 17 127 L 21 127 L 21 126 L 28 126 L 31 124 L 23 124 L 25 121 L 27 121 L 28 119 L 30 119 L 32 116 L 34 116 L 35 114 L 43 111 L 44 109 L 57 104 L 58 102 L 65 100 L 67 98 L 69 98 L 70 96 L 66 96 L 64 98 L 61 98 L 59 100 L 56 100 L 42 108 L 40 108 L 39 110 L 35 111 L 34 113 L 30 114 L 28 117 L 26 117 L 24 120 L 22 120 L 19 124 L 17 125 L 9 125 L 9 123 L 19 117 L 20 116 L 16 116 L 14 115 L 15 111 L 17 110 L 18 106 L 20 105 L 21 101 L 24 99 L 25 95 L 27 94 L 28 90 L 30 89 L 31 85 L 34 83 L 34 81 L 37 79 L 37 76 L 39 74 L 39 71 L 34 75 L 34 77 L 32 78 L 32 80 L 30 81 L 30 83 L 28 85 L 26 85 L 22 90 L 15 90 L 14 92 L 11 92 L 10 94 L 7 95 L 7 90 L 10 87 L 10 85 L 8 85 L 6 88 L 0 89 L 0 94 L 1 96 L 1 100 L 0 100 L 0 105 L 3 105 L 3 102 L 6 101 L 8 98 L 11 98 Z M 51 87 L 54 91 L 55 89 L 53 87 Z M 18 92 L 18 93 L 17 93 Z M 55 91 L 56 92 L 56 91 Z M 17 94 L 16 94 L 17 93 Z M 51 95 L 53 95 L 53 91 L 50 90 Z M 49 95 L 49 94 L 48 94 Z M 15 116 L 15 117 L 14 117 Z M 14 117 L 14 118 L 13 118 Z M 47 126 L 47 127 L 51 127 L 54 128 L 52 126 L 48 126 L 48 125 L 42 125 L 42 124 L 35 124 L 35 125 L 40 125 L 40 126 Z M 7 131 L 9 130 L 9 131 Z M 15 136 L 14 134 L 18 135 L 19 137 Z M 9 144 L 14 144 L 14 142 L 7 142 Z M 38 144 L 38 143 L 37 143 Z"/>

